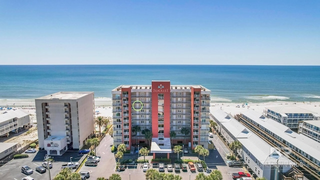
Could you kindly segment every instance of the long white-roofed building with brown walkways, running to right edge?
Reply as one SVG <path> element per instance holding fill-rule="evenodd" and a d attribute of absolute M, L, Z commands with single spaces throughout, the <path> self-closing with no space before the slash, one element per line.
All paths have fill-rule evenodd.
<path fill-rule="evenodd" d="M 237 119 L 268 143 L 286 152 L 305 173 L 320 179 L 320 143 L 292 131 L 287 126 L 252 109 L 241 112 Z"/>

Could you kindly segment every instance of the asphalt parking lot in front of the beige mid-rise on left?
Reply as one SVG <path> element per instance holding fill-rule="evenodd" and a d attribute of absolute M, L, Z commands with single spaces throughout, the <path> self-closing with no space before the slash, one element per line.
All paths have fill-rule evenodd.
<path fill-rule="evenodd" d="M 54 156 L 52 162 L 52 168 L 50 168 L 51 179 L 60 171 L 61 165 L 70 161 L 78 161 L 83 155 L 77 154 L 78 151 L 68 151 L 61 156 Z M 46 151 L 36 151 L 35 153 L 27 153 L 29 157 L 12 159 L 3 166 L 0 167 L 0 179 L 15 179 L 20 180 L 26 175 L 21 172 L 23 165 L 29 166 L 33 173 L 29 176 L 34 180 L 49 179 L 48 170 L 44 173 L 35 171 L 35 167 L 42 164 Z"/>

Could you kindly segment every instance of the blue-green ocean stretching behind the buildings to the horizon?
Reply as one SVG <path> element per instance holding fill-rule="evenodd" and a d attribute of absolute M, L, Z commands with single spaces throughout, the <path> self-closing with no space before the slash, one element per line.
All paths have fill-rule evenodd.
<path fill-rule="evenodd" d="M 0 65 L 0 100 L 57 91 L 94 91 L 110 99 L 121 84 L 200 84 L 211 102 L 320 101 L 320 66 L 280 65 Z"/>

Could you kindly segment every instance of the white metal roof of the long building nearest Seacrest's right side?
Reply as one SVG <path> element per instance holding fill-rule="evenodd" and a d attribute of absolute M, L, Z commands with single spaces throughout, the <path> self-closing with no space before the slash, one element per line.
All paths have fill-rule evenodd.
<path fill-rule="evenodd" d="M 239 121 L 230 117 L 223 110 L 218 109 L 212 115 L 217 118 L 217 120 L 221 122 L 221 125 L 224 126 L 245 148 L 247 148 L 250 153 L 260 161 L 260 163 L 274 164 L 279 160 L 278 162 L 283 162 L 283 164 L 294 164 L 290 159 L 272 148 L 272 146 L 266 143 L 263 139 L 254 134 Z M 226 115 L 230 118 L 224 118 Z M 280 154 L 280 156 L 275 157 L 272 155 L 273 153 Z"/>

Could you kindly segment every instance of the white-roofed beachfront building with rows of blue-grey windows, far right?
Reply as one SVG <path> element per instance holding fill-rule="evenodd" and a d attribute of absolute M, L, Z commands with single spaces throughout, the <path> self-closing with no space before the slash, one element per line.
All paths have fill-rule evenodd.
<path fill-rule="evenodd" d="M 298 128 L 298 121 L 301 120 L 320 119 L 320 114 L 298 106 L 266 107 L 263 114 L 290 128 Z"/>

